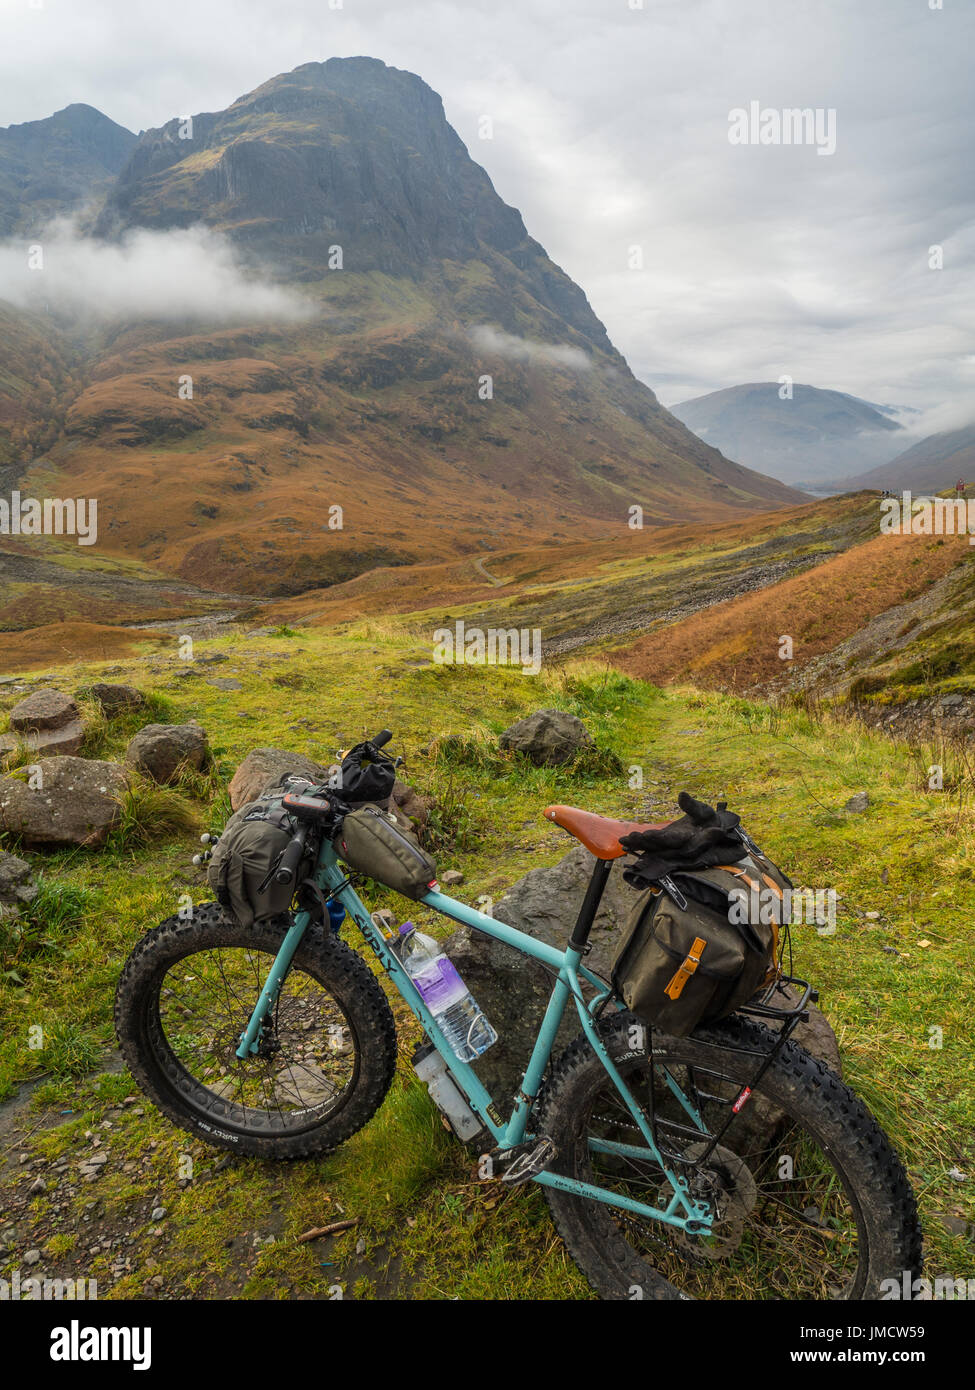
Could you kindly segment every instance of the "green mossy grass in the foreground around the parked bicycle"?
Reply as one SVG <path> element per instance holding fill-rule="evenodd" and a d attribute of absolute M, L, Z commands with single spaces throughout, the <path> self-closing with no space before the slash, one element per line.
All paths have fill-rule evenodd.
<path fill-rule="evenodd" d="M 572 840 L 541 819 L 547 802 L 650 820 L 676 815 L 683 788 L 711 801 L 726 795 L 797 883 L 836 888 L 836 934 L 796 929 L 796 967 L 821 988 L 850 1084 L 905 1158 L 929 1269 L 971 1269 L 964 1234 L 949 1229 L 975 1219 L 971 1176 L 965 1183 L 949 1176 L 953 1168 L 975 1172 L 965 986 L 975 965 L 968 930 L 975 778 L 964 751 L 911 749 L 815 708 L 659 691 L 594 663 L 545 669 L 537 678 L 503 667 L 423 666 L 399 626 L 384 635 L 371 624 L 352 634 L 302 630 L 287 645 L 299 648 L 295 659 L 313 691 L 307 698 L 271 680 L 284 660 L 274 655 L 282 651 L 280 632 L 213 644 L 229 657 L 221 674 L 238 676 L 241 692 L 179 681 L 175 662 L 124 666 L 118 678 L 152 688 L 171 702 L 172 719 L 198 719 L 209 731 L 210 781 L 196 785 L 196 796 L 140 787 L 128 828 L 102 852 L 29 856 L 51 888 L 82 897 L 78 910 L 61 899 L 60 917 L 49 899 L 45 931 L 57 951 L 39 937 L 24 962 L 26 986 L 0 981 L 0 1094 L 40 1081 L 32 1099 L 40 1129 L 25 1151 L 74 1161 L 88 1144 L 85 1133 L 108 1123 L 113 1154 L 97 1188 L 79 1188 L 57 1222 L 43 1202 L 31 1208 L 25 1237 L 32 1244 L 47 1248 L 54 1234 L 86 1232 L 85 1202 L 97 1195 L 103 1230 L 134 1229 L 132 1245 L 124 1247 L 129 1270 L 113 1275 L 107 1252 L 85 1259 L 103 1297 L 142 1297 L 150 1255 L 166 1297 L 328 1298 L 337 1286 L 345 1297 L 587 1297 L 541 1194 L 478 1182 L 476 1159 L 444 1133 L 412 1076 L 416 1024 L 398 998 L 391 1001 L 401 1042 L 394 1088 L 374 1120 L 320 1162 L 225 1162 L 143 1105 L 124 1072 L 106 1070 L 121 963 L 145 930 L 177 910 L 181 895 L 209 897 L 189 859 L 200 821 L 207 828 L 221 823 L 223 788 L 239 759 L 268 745 L 327 763 L 335 748 L 385 726 L 406 756 L 405 778 L 435 799 L 440 866 L 463 870 L 460 892 L 469 901 L 497 898 L 529 869 L 567 852 Z M 81 674 L 99 678 L 96 669 Z M 538 769 L 502 755 L 497 731 L 538 708 L 577 713 L 605 760 Z M 110 739 L 104 746 L 117 752 L 121 733 Z M 926 770 L 939 762 L 943 790 L 933 791 Z M 868 810 L 844 812 L 858 791 L 868 792 Z M 401 916 L 405 906 L 388 891 L 370 905 Z M 424 930 L 449 934 L 428 917 Z M 348 940 L 356 945 L 355 931 Z M 28 1045 L 26 1029 L 35 1024 L 46 1040 L 40 1049 Z M 181 1177 L 186 1156 L 189 1180 Z M 157 1202 L 167 1208 L 159 1236 L 149 1222 Z M 309 1227 L 344 1218 L 357 1219 L 356 1227 L 298 1243 Z M 256 1247 L 255 1236 L 275 1238 Z M 71 1252 L 63 1258 L 78 1262 Z"/>

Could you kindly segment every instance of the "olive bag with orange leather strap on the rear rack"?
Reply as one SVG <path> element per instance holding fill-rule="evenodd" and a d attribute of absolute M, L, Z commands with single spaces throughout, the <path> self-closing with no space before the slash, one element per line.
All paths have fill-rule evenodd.
<path fill-rule="evenodd" d="M 790 880 L 761 852 L 661 878 L 627 917 L 612 965 L 616 994 L 673 1037 L 734 1013 L 779 973 L 784 888 Z M 773 910 L 757 912 L 754 897 L 736 903 L 743 890 L 765 890 Z"/>

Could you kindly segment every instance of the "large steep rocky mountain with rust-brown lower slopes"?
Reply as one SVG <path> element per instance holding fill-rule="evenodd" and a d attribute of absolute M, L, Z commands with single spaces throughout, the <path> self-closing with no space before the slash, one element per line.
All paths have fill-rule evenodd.
<path fill-rule="evenodd" d="M 652 525 L 801 500 L 633 377 L 409 72 L 305 64 L 192 128 L 147 131 L 93 225 L 117 239 L 199 222 L 307 314 L 138 317 L 72 338 L 64 428 L 25 485 L 102 496 L 100 550 L 280 595 L 620 535 L 634 505 Z"/>

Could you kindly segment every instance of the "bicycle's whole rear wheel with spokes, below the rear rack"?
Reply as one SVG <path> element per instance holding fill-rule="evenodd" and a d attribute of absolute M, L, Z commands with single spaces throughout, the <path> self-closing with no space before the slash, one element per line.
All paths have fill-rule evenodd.
<path fill-rule="evenodd" d="M 918 1273 L 921 1232 L 903 1165 L 837 1076 L 786 1044 L 705 1158 L 708 1141 L 695 1137 L 666 1073 L 716 1134 L 775 1036 L 743 1019 L 690 1038 L 654 1034 L 651 1066 L 647 1047 L 631 1045 L 634 1026 L 620 1013 L 604 1041 L 647 1109 L 652 1088 L 658 1147 L 714 1225 L 688 1236 L 547 1187 L 559 1234 L 601 1297 L 861 1300 L 882 1297 L 886 1279 L 900 1287 L 905 1270 Z M 670 1183 L 584 1038 L 556 1063 L 541 1129 L 558 1148 L 552 1172 L 668 1207 Z"/>

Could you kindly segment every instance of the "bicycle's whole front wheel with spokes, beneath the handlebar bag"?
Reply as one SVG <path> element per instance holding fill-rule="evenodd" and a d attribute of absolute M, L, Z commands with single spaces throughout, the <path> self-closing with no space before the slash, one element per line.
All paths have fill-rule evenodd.
<path fill-rule="evenodd" d="M 202 903 L 142 938 L 115 991 L 115 1031 L 146 1095 L 207 1144 L 256 1158 L 328 1152 L 374 1115 L 396 1065 L 378 981 L 320 926 L 302 938 L 256 1055 L 236 1058 L 289 926 L 245 929 Z"/>

